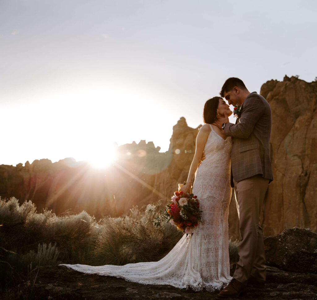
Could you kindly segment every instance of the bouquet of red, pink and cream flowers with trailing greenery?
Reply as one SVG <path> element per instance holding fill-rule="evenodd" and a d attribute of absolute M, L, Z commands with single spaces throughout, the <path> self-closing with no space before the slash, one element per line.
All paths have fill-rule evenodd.
<path fill-rule="evenodd" d="M 165 210 L 161 211 L 161 216 L 157 216 L 153 221 L 154 225 L 156 227 L 160 226 L 162 220 L 170 221 L 186 234 L 192 234 L 201 220 L 197 196 L 176 191 L 171 197 L 171 201 L 166 205 Z"/>

